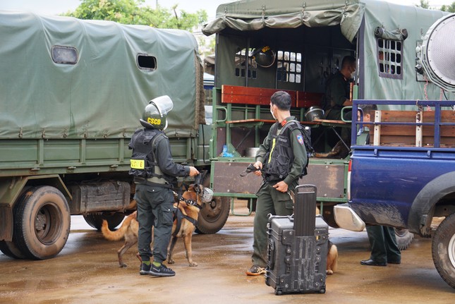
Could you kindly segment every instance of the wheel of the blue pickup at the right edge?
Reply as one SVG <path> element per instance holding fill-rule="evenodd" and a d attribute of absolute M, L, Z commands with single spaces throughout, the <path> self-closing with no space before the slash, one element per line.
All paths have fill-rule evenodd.
<path fill-rule="evenodd" d="M 455 213 L 437 227 L 431 250 L 437 272 L 451 288 L 455 288 Z"/>

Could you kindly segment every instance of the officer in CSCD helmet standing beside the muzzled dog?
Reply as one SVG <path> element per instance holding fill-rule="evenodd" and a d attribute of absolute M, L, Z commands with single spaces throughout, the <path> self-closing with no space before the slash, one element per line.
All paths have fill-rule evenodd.
<path fill-rule="evenodd" d="M 145 107 L 139 128 L 128 147 L 133 150 L 130 174 L 136 184 L 138 203 L 138 250 L 142 259 L 140 274 L 174 276 L 175 272 L 162 264 L 167 257 L 174 221 L 174 194 L 172 188 L 177 176 L 196 176 L 198 169 L 174 163 L 167 127 L 167 114 L 174 107 L 169 96 L 152 99 Z M 152 226 L 154 226 L 153 253 Z M 154 258 L 150 262 L 150 257 Z"/>

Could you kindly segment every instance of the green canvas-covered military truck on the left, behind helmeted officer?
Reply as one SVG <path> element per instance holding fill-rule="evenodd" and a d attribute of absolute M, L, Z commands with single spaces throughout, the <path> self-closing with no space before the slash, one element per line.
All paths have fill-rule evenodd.
<path fill-rule="evenodd" d="M 174 160 L 210 169 L 203 69 L 189 32 L 0 11 L 0 40 L 5 255 L 54 257 L 71 215 L 112 229 L 135 209 L 128 142 L 154 97 L 174 102 L 166 129 Z M 198 231 L 217 232 L 228 215 L 229 202 L 214 197 Z"/>

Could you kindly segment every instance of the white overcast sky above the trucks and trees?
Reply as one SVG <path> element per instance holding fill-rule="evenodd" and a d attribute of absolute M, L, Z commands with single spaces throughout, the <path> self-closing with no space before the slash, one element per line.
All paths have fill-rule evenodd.
<path fill-rule="evenodd" d="M 217 7 L 220 4 L 233 2 L 231 0 L 146 0 L 145 4 L 154 8 L 157 4 L 160 6 L 171 7 L 173 4 L 178 4 L 178 8 L 189 13 L 195 13 L 199 9 L 205 9 L 209 16 L 209 20 L 215 17 Z M 419 0 L 387 0 L 400 4 L 415 5 L 420 4 Z M 430 7 L 442 6 L 443 4 L 451 4 L 455 0 L 430 0 Z M 32 11 L 34 13 L 44 15 L 58 15 L 73 11 L 80 4 L 80 0 L 0 0 L 0 9 L 13 9 L 22 11 Z"/>

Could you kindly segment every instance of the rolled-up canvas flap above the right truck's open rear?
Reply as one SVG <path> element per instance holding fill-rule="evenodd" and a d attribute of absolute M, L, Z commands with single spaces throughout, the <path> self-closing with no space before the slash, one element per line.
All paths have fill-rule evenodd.
<path fill-rule="evenodd" d="M 341 32 L 350 42 L 362 22 L 365 6 L 360 1 L 236 1 L 217 8 L 217 18 L 205 25 L 202 32 L 212 35 L 224 28 L 260 30 L 261 28 L 310 28 L 340 25 Z"/>

